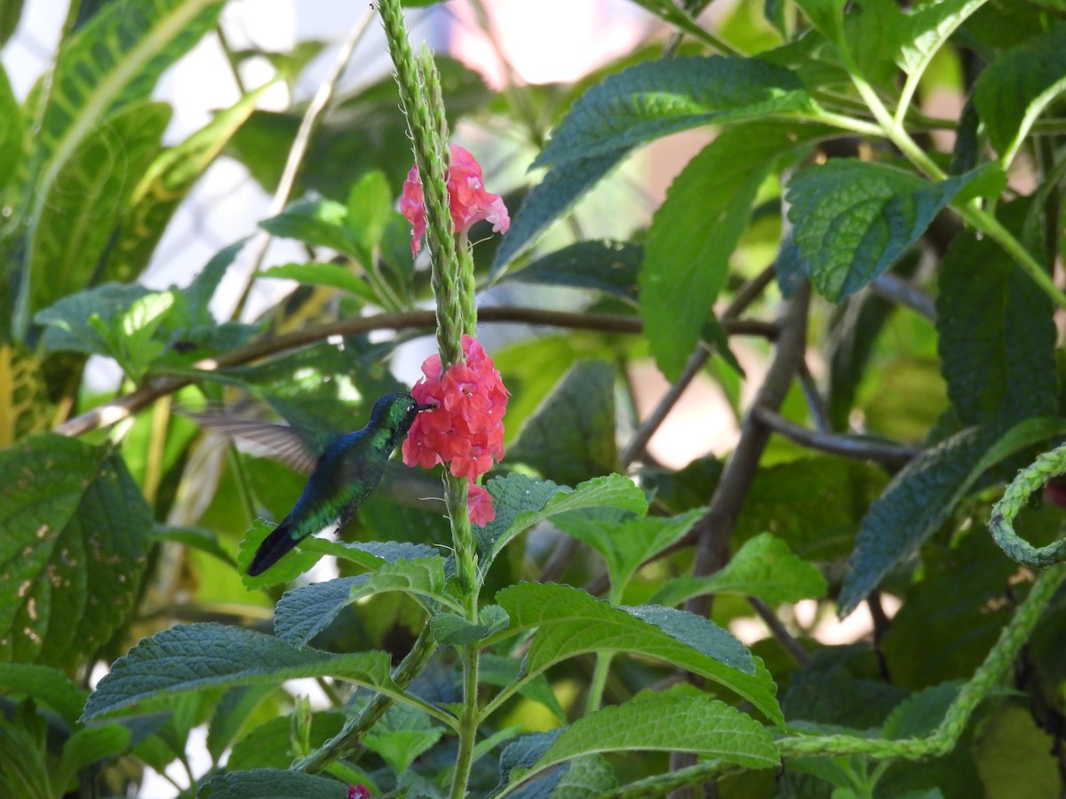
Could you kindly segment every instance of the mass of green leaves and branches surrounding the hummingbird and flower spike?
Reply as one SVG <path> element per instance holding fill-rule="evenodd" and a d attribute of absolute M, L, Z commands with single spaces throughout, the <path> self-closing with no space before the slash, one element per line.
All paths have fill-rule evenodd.
<path fill-rule="evenodd" d="M 399 467 L 341 542 L 244 576 L 305 477 L 176 412 L 354 429 L 432 335 L 395 83 L 334 91 L 359 29 L 313 101 L 247 88 L 176 142 L 152 93 L 224 36 L 223 0 L 76 0 L 28 96 L 0 71 L 0 793 L 128 795 L 178 762 L 184 796 L 455 795 L 456 732 L 475 796 L 1062 793 L 1062 572 L 1034 548 L 1066 501 L 1054 479 L 1024 500 L 1066 467 L 1038 461 L 994 517 L 1028 550 L 986 524 L 1066 434 L 1066 5 L 637 4 L 662 25 L 574 84 L 492 91 L 436 60 L 453 129 L 534 168 L 489 185 L 514 224 L 474 248 L 514 394 L 477 622 L 439 482 Z M 320 50 L 229 54 L 291 85 Z M 706 144 L 646 224 L 605 239 L 585 195 L 689 130 Z M 147 288 L 220 158 L 270 218 Z M 269 237 L 306 259 L 264 264 Z M 264 276 L 300 286 L 254 315 Z M 649 361 L 673 386 L 641 418 Z M 684 424 L 739 435 L 671 468 L 648 439 L 694 379 L 732 418 Z M 323 554 L 339 574 L 301 578 Z M 830 637 L 853 613 L 865 630 Z"/>

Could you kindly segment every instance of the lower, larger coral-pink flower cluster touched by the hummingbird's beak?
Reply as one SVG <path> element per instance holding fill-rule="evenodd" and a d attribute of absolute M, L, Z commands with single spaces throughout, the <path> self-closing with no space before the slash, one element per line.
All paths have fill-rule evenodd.
<path fill-rule="evenodd" d="M 419 403 L 433 404 L 422 411 L 403 442 L 403 462 L 430 469 L 447 463 L 456 477 L 470 482 L 470 521 L 485 525 L 496 518 L 492 498 L 478 477 L 503 457 L 503 414 L 508 392 L 485 348 L 463 337 L 466 359 L 441 374 L 440 356 L 422 364 L 423 377 L 411 388 Z"/>

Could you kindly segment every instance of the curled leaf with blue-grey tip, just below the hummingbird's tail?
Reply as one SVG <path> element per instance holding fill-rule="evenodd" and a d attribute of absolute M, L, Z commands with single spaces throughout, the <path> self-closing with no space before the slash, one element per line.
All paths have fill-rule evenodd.
<path fill-rule="evenodd" d="M 339 577 L 294 588 L 285 593 L 274 610 L 274 632 L 284 641 L 303 647 L 325 630 L 342 609 L 364 597 L 403 591 L 448 603 L 443 594 L 445 559 L 397 560 L 376 572 Z"/>

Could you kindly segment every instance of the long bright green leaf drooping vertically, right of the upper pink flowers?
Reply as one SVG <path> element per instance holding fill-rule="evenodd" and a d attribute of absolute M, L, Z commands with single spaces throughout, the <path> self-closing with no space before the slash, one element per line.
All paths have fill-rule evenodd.
<path fill-rule="evenodd" d="M 777 158 L 826 135 L 821 126 L 732 127 L 690 161 L 656 211 L 641 267 L 641 317 L 656 363 L 676 379 L 713 319 L 729 258 Z"/>

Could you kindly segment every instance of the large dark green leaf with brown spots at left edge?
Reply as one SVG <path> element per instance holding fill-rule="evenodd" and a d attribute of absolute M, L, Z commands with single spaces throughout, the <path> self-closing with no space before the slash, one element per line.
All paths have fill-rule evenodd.
<path fill-rule="evenodd" d="M 0 661 L 84 663 L 133 606 L 150 528 L 107 447 L 47 434 L 0 452 Z"/>

